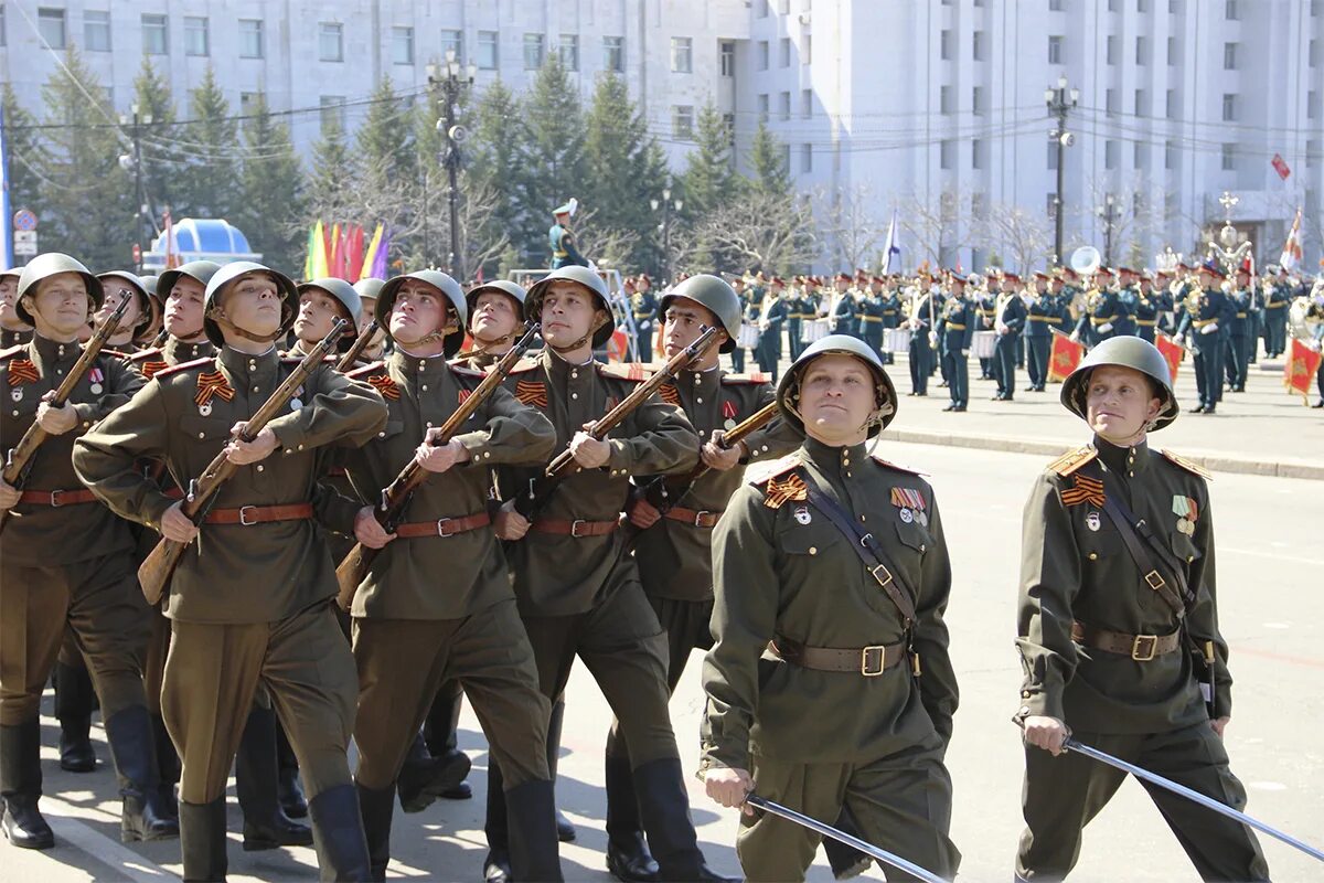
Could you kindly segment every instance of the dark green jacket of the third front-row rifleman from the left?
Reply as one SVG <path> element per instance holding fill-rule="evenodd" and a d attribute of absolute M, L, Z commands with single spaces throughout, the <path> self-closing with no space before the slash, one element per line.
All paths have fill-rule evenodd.
<path fill-rule="evenodd" d="M 348 451 L 344 463 L 355 491 L 376 500 L 432 426 L 450 418 L 483 375 L 448 365 L 442 356 L 420 359 L 402 351 L 350 375 L 371 383 L 387 400 L 385 428 Z M 556 443 L 552 425 L 538 410 L 498 387 L 454 438 L 470 461 L 430 475 L 413 494 L 404 522 L 463 518 L 487 510 L 490 467 L 545 463 Z M 343 499 L 343 498 L 342 498 Z M 340 530 L 354 532 L 360 506 L 344 500 Z M 458 620 L 511 597 L 506 559 L 490 527 L 453 536 L 396 539 L 372 563 L 351 613 L 383 620 Z"/>

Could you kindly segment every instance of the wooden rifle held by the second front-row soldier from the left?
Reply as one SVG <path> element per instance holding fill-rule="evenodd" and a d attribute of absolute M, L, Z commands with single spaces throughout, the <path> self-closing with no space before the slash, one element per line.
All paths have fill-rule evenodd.
<path fill-rule="evenodd" d="M 347 319 L 336 319 L 331 327 L 331 332 L 322 339 L 322 343 L 312 347 L 308 355 L 303 356 L 303 361 L 277 387 L 271 397 L 262 402 L 257 413 L 248 420 L 244 432 L 238 434 L 241 441 L 253 441 L 273 418 L 279 416 L 279 412 L 294 397 L 295 391 L 322 364 L 322 360 L 327 357 L 327 353 L 335 347 L 335 342 L 340 339 L 348 327 L 350 322 Z M 221 486 L 234 475 L 236 470 L 238 470 L 238 466 L 230 462 L 229 457 L 225 455 L 225 450 L 221 450 L 207 465 L 201 475 L 189 481 L 181 506 L 181 511 L 188 520 L 197 526 L 201 526 L 207 520 L 208 512 L 216 506 Z M 138 584 L 143 588 L 143 597 L 147 598 L 147 604 L 155 605 L 160 601 L 162 594 L 166 592 L 166 584 L 169 582 L 169 576 L 175 572 L 175 565 L 179 564 L 185 545 L 187 543 L 176 543 L 175 540 L 162 537 L 156 548 L 152 549 L 151 555 L 138 568 Z"/>

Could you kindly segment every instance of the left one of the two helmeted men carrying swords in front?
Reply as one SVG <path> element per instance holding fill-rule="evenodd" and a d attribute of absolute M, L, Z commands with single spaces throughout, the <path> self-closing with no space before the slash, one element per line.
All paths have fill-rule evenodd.
<path fill-rule="evenodd" d="M 957 691 L 933 491 L 869 451 L 896 393 L 861 342 L 805 349 L 777 404 L 804 445 L 749 470 L 712 540 L 699 772 L 723 806 L 757 790 L 814 818 L 846 808 L 865 839 L 949 879 Z M 751 880 L 797 880 L 817 842 L 745 806 L 736 854 Z"/>

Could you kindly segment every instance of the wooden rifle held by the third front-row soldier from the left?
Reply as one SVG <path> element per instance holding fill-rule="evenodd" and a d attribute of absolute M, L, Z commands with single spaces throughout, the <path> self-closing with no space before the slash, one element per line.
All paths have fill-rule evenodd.
<path fill-rule="evenodd" d="M 454 413 L 446 418 L 446 422 L 441 425 L 437 433 L 437 441 L 433 445 L 445 445 L 450 442 L 451 436 L 458 433 L 463 428 L 465 422 L 486 402 L 496 388 L 500 387 L 506 377 L 510 375 L 511 368 L 515 363 L 528 351 L 538 338 L 540 324 L 534 320 L 524 323 L 524 336 L 515 342 L 506 355 L 500 357 L 493 369 L 483 377 L 478 388 L 469 395 L 459 406 L 455 408 Z M 409 499 L 413 496 L 414 490 L 420 485 L 428 481 L 432 475 L 428 470 L 418 465 L 417 461 L 410 459 L 409 463 L 400 470 L 395 481 L 391 482 L 389 487 L 383 488 L 380 502 L 372 507 L 372 515 L 377 519 L 377 523 L 387 531 L 387 534 L 395 532 L 396 527 L 400 524 L 400 519 L 404 518 L 405 508 L 409 506 Z M 340 567 L 335 569 L 336 582 L 340 585 L 340 590 L 336 593 L 336 604 L 340 605 L 342 610 L 350 610 L 354 606 L 354 596 L 359 590 L 359 584 L 363 582 L 363 577 L 368 575 L 368 568 L 372 567 L 372 560 L 377 557 L 377 552 L 381 549 L 372 549 L 363 543 L 356 543 L 350 553 L 344 556 L 340 561 Z"/>

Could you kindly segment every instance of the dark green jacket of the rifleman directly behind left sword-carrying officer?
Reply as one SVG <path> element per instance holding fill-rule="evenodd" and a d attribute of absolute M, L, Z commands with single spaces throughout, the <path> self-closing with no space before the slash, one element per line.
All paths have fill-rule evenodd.
<path fill-rule="evenodd" d="M 662 398 L 679 405 L 702 441 L 733 428 L 773 400 L 769 384 L 719 368 L 682 371 L 677 383 L 662 387 Z M 780 417 L 745 437 L 752 461 L 781 457 L 800 446 L 800 434 Z M 647 478 L 641 483 L 647 482 Z M 720 515 L 744 481 L 744 469 L 710 469 L 674 506 Z M 678 601 L 712 598 L 712 528 L 661 519 L 634 541 L 643 589 Z"/>

